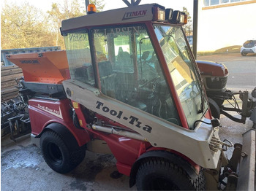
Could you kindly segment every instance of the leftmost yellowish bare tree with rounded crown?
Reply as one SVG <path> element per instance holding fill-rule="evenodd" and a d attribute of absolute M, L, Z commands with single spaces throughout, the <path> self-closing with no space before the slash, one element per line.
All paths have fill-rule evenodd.
<path fill-rule="evenodd" d="M 28 3 L 4 4 L 1 11 L 1 49 L 53 46 L 42 12 Z"/>

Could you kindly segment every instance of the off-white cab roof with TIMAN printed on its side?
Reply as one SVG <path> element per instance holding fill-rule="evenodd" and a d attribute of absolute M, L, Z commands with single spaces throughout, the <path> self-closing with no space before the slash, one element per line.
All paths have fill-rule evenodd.
<path fill-rule="evenodd" d="M 152 7 L 154 6 L 165 9 L 165 7 L 159 6 L 158 4 L 143 4 L 121 9 L 112 9 L 105 12 L 96 12 L 90 15 L 63 20 L 61 23 L 61 31 L 69 31 L 87 26 L 150 21 L 153 19 Z"/>

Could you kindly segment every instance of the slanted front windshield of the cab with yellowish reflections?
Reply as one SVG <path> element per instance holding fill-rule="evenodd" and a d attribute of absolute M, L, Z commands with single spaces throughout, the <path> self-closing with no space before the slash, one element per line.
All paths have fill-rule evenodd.
<path fill-rule="evenodd" d="M 154 28 L 189 128 L 194 129 L 195 120 L 203 117 L 208 106 L 184 33 L 181 26 L 156 25 Z"/>

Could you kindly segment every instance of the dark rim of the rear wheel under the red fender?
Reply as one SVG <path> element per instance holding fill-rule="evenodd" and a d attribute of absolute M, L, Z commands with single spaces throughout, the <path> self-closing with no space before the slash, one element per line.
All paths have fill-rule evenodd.
<path fill-rule="evenodd" d="M 48 143 L 47 150 L 48 150 L 49 158 L 53 163 L 57 165 L 62 163 L 63 157 L 62 157 L 61 149 L 59 149 L 59 147 L 56 144 Z"/>

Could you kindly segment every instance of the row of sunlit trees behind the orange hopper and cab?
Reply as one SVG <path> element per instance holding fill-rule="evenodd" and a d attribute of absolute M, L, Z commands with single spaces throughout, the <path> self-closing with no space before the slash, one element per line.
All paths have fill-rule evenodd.
<path fill-rule="evenodd" d="M 104 0 L 93 0 L 101 11 Z M 1 9 L 1 49 L 24 47 L 61 46 L 64 39 L 60 35 L 61 21 L 71 17 L 86 15 L 81 0 L 64 0 L 61 4 L 52 4 L 52 8 L 44 14 L 40 9 L 24 3 L 20 6 L 4 4 Z"/>

